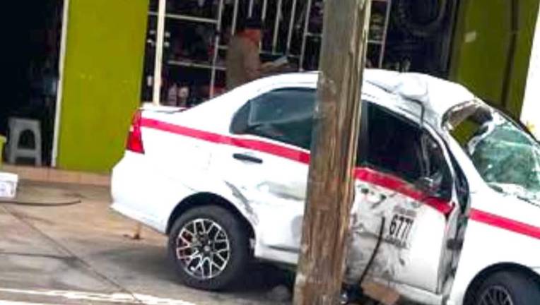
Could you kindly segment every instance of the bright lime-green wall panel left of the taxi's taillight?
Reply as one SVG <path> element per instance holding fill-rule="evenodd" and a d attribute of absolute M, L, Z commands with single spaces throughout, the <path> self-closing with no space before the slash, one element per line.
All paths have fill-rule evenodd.
<path fill-rule="evenodd" d="M 140 100 L 148 0 L 70 0 L 58 167 L 110 172 Z"/>

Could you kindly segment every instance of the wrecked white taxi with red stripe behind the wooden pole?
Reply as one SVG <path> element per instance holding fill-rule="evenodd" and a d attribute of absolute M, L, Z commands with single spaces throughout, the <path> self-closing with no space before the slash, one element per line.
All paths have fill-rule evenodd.
<path fill-rule="evenodd" d="M 297 263 L 317 76 L 136 112 L 112 208 L 168 234 L 185 284 L 222 289 L 250 258 Z M 539 143 L 430 76 L 368 70 L 362 99 L 347 282 L 424 304 L 540 304 Z"/>

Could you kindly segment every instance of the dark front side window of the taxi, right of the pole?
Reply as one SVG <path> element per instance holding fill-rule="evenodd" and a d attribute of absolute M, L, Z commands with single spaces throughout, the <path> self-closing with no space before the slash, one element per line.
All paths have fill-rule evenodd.
<path fill-rule="evenodd" d="M 410 183 L 430 177 L 440 186 L 440 198 L 451 198 L 452 174 L 443 150 L 430 133 L 421 131 L 418 124 L 366 102 L 361 132 L 360 165 L 393 174 Z"/>

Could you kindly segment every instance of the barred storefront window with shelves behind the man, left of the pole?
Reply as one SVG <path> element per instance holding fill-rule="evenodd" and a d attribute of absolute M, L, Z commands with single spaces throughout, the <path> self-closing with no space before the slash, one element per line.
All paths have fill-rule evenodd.
<path fill-rule="evenodd" d="M 158 0 L 151 0 L 142 100 L 152 102 Z M 228 42 L 249 17 L 262 21 L 262 61 L 317 68 L 322 1 L 166 0 L 159 104 L 189 107 L 225 91 Z M 153 101 L 156 102 L 156 101 Z"/>

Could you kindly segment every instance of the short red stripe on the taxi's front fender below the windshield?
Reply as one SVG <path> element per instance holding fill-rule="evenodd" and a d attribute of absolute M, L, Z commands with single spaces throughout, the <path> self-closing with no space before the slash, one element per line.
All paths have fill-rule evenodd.
<path fill-rule="evenodd" d="M 524 222 L 518 222 L 499 215 L 484 212 L 482 210 L 471 209 L 469 214 L 471 220 L 481 222 L 492 227 L 498 227 L 507 231 L 527 235 L 528 237 L 534 237 L 540 239 L 540 227 L 528 225 Z"/>

